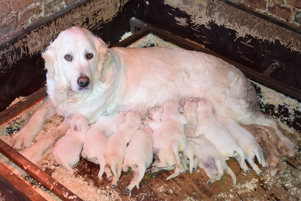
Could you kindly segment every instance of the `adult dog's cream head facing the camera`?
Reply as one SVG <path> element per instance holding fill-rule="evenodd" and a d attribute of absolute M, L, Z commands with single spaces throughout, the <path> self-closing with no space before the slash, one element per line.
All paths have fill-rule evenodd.
<path fill-rule="evenodd" d="M 106 43 L 85 28 L 62 31 L 43 52 L 47 79 L 74 92 L 91 90 L 107 54 Z"/>

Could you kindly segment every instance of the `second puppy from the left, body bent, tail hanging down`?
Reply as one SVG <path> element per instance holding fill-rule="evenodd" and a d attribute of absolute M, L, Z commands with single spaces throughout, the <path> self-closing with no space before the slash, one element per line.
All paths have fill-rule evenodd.
<path fill-rule="evenodd" d="M 90 126 L 83 140 L 82 157 L 99 164 L 98 178 L 100 180 L 102 180 L 105 167 L 107 137 L 115 132 L 124 117 L 122 113 L 113 117 L 103 116 Z"/>

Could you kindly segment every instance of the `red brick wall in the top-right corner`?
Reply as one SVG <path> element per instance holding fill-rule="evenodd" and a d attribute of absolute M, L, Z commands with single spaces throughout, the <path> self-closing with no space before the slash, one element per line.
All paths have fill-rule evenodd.
<path fill-rule="evenodd" d="M 301 0 L 229 0 L 250 10 L 264 14 L 301 29 Z"/>

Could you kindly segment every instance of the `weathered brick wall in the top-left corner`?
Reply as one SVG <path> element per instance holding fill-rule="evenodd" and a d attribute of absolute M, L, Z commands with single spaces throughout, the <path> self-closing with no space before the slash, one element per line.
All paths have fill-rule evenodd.
<path fill-rule="evenodd" d="M 81 0 L 0 0 L 0 40 Z"/>

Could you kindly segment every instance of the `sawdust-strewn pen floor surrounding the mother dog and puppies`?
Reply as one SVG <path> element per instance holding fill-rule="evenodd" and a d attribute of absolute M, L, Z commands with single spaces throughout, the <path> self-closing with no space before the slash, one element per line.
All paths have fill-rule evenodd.
<path fill-rule="evenodd" d="M 128 37 L 130 33 L 124 34 L 121 40 Z M 148 47 L 148 46 L 174 46 L 155 35 L 149 34 L 132 44 L 130 47 Z M 281 93 L 271 90 L 261 84 L 253 82 L 256 87 L 258 97 L 260 98 L 260 106 L 263 112 L 272 114 L 280 126 L 293 138 L 297 144 L 301 144 L 301 103 L 295 99 L 287 97 Z M 20 97 L 19 100 L 22 100 Z M 13 103 L 17 102 L 15 100 Z M 30 107 L 26 111 L 20 113 L 13 119 L 0 125 L 0 139 L 4 142 L 10 142 L 12 134 L 17 132 L 20 127 L 27 121 L 30 115 L 42 104 L 42 100 L 36 105 Z M 63 119 L 61 117 L 52 117 L 44 126 L 44 130 L 37 135 L 32 144 L 40 139 L 43 134 L 53 130 Z M 23 151 L 23 150 L 22 150 Z M 20 151 L 20 152 L 22 152 Z M 300 153 L 297 152 L 296 156 L 292 159 L 288 159 L 286 162 L 288 166 L 284 172 L 283 178 L 272 181 L 269 177 L 267 169 L 263 170 L 264 175 L 262 177 L 256 174 L 245 173 L 239 169 L 233 170 L 236 173 L 237 184 L 234 187 L 231 185 L 230 178 L 221 179 L 220 182 L 214 183 L 210 187 L 212 192 L 208 193 L 206 189 L 201 189 L 205 197 L 198 195 L 197 192 L 189 193 L 185 190 L 184 186 L 171 186 L 171 184 L 164 181 L 169 175 L 168 171 L 161 171 L 153 175 L 145 175 L 145 178 L 140 182 L 140 190 L 133 189 L 132 195 L 124 196 L 121 191 L 114 191 L 109 182 L 98 180 L 97 178 L 97 165 L 89 163 L 88 161 L 81 159 L 78 165 L 74 166 L 75 174 L 71 176 L 68 171 L 57 165 L 52 157 L 48 155 L 45 160 L 42 160 L 38 166 L 58 182 L 63 184 L 77 196 L 83 200 L 199 200 L 199 198 L 210 198 L 212 200 L 300 200 L 301 198 L 301 162 L 299 162 Z M 0 161 L 7 164 L 9 160 L 0 154 Z M 235 161 L 227 161 L 228 164 L 235 163 Z M 229 165 L 229 166 L 230 166 Z M 233 169 L 233 165 L 230 166 Z M 254 172 L 254 171 L 253 171 Z M 167 174 L 166 174 L 167 173 Z M 185 174 L 190 174 L 185 173 Z M 187 176 L 188 179 L 192 178 L 192 181 L 201 180 L 206 177 L 203 170 L 198 169 L 196 178 L 193 175 Z M 198 175 L 199 174 L 199 175 Z M 247 175 L 248 174 L 248 175 Z M 166 176 L 166 177 L 165 177 Z M 181 175 L 179 176 L 181 178 Z M 200 178 L 198 178 L 200 177 Z M 229 177 L 229 176 L 228 176 Z M 124 178 L 124 179 L 123 179 Z M 128 179 L 127 179 L 128 178 Z M 161 179 L 160 179 L 161 178 Z M 40 193 L 47 200 L 60 200 L 53 193 L 43 187 L 39 182 L 35 181 L 30 176 L 22 177 L 22 179 L 34 187 L 34 189 Z M 130 171 L 123 173 L 123 176 L 119 182 L 119 188 L 127 186 L 131 179 Z M 228 180 L 226 180 L 228 179 Z M 185 180 L 185 179 L 184 179 Z M 206 180 L 206 179 L 203 179 Z M 206 180 L 207 181 L 207 180 Z M 225 186 L 225 184 L 228 184 Z M 185 182 L 184 182 L 185 184 Z M 191 184 L 192 185 L 192 184 Z M 200 184 L 201 185 L 201 184 Z M 150 186 L 150 187 L 149 187 Z M 151 190 L 149 189 L 151 188 Z M 205 187 L 204 187 L 205 188 Z M 144 190 L 143 190 L 144 189 Z M 147 190 L 145 190 L 147 189 Z M 260 190 L 259 190 L 260 189 Z M 274 192 L 275 191 L 275 192 Z M 272 193 L 271 193 L 272 192 Z M 278 193 L 277 193 L 278 192 Z M 181 194 L 181 195 L 180 195 Z M 201 193 L 202 194 L 202 193 Z M 175 196 L 174 196 L 175 195 Z"/>

